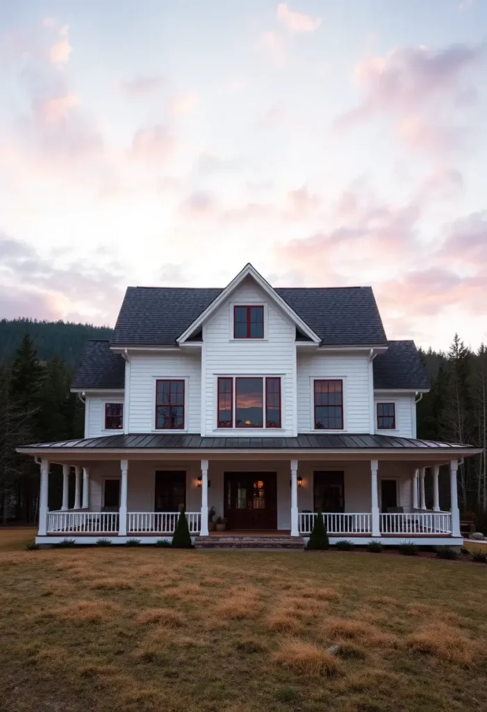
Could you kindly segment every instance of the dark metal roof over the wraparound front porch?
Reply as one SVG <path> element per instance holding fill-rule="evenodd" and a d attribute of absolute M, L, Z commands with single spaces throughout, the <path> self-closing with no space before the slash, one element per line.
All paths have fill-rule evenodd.
<path fill-rule="evenodd" d="M 451 449 L 469 448 L 469 445 L 436 442 L 432 440 L 414 440 L 390 435 L 343 435 L 343 434 L 301 434 L 296 438 L 202 438 L 196 434 L 132 434 L 109 435 L 97 438 L 83 438 L 54 443 L 40 443 L 25 446 L 31 449 Z M 24 449 L 24 448 L 22 448 Z"/>

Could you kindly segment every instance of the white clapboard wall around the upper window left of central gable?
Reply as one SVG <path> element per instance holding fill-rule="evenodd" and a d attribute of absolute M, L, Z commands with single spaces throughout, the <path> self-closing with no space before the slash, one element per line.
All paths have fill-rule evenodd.
<path fill-rule="evenodd" d="M 186 378 L 185 430 L 200 431 L 201 356 L 199 352 L 132 355 L 130 359 L 129 432 L 155 429 L 156 379 Z"/>

